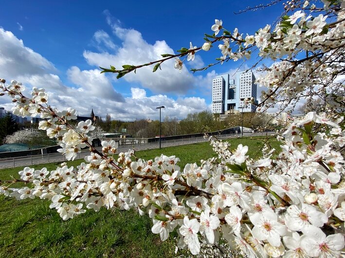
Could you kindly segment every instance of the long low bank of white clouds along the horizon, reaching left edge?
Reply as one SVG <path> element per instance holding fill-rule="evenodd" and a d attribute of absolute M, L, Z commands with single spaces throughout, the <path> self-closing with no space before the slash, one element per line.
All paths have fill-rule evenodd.
<path fill-rule="evenodd" d="M 103 39 L 101 40 L 102 36 L 98 38 L 101 43 L 104 43 Z M 158 43 L 158 45 L 160 44 L 165 43 Z M 160 51 L 160 53 L 162 52 Z M 114 90 L 109 76 L 100 74 L 97 69 L 81 70 L 76 66 L 71 66 L 66 73 L 68 80 L 73 84 L 67 86 L 56 74 L 54 64 L 33 49 L 25 47 L 22 40 L 19 40 L 12 32 L 4 31 L 1 28 L 0 71 L 2 78 L 21 81 L 28 89 L 33 86 L 45 88 L 49 95 L 49 103 L 53 107 L 57 107 L 59 110 L 72 107 L 78 111 L 79 115 L 87 116 L 93 108 L 96 115 L 105 117 L 109 113 L 112 119 L 127 121 L 141 118 L 158 119 L 159 112 L 156 107 L 163 105 L 165 106 L 162 111 L 163 115 L 181 119 L 187 113 L 207 109 L 203 98 L 179 97 L 174 99 L 165 94 L 147 96 L 145 89 L 139 86 L 131 87 L 131 95 L 123 97 Z M 170 72 L 172 71 L 175 72 L 175 70 Z M 152 74 L 152 71 L 150 73 Z M 122 87 L 121 81 L 117 81 L 117 87 Z M 11 110 L 13 105 L 9 97 L 0 97 L 1 107 Z"/>

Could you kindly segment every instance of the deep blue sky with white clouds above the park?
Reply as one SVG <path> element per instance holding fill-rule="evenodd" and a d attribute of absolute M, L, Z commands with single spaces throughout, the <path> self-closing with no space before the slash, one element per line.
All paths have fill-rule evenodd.
<path fill-rule="evenodd" d="M 214 62 L 218 44 L 200 51 L 182 73 L 173 63 L 126 75 L 120 80 L 100 74 L 98 66 L 120 67 L 155 60 L 162 53 L 203 44 L 203 33 L 212 34 L 215 18 L 226 29 L 254 32 L 280 16 L 280 4 L 263 11 L 234 12 L 258 1 L 5 1 L 0 20 L 0 77 L 22 81 L 27 88 L 46 88 L 50 103 L 72 107 L 80 115 L 110 113 L 113 119 L 157 119 L 163 115 L 183 118 L 210 108 L 211 80 L 234 72 L 241 62 L 228 62 L 192 74 L 188 70 Z M 268 2 L 268 1 L 260 1 Z M 242 67 L 250 67 L 256 59 Z M 260 90 L 259 90 L 260 91 Z M 10 109 L 7 97 L 0 106 Z"/>

